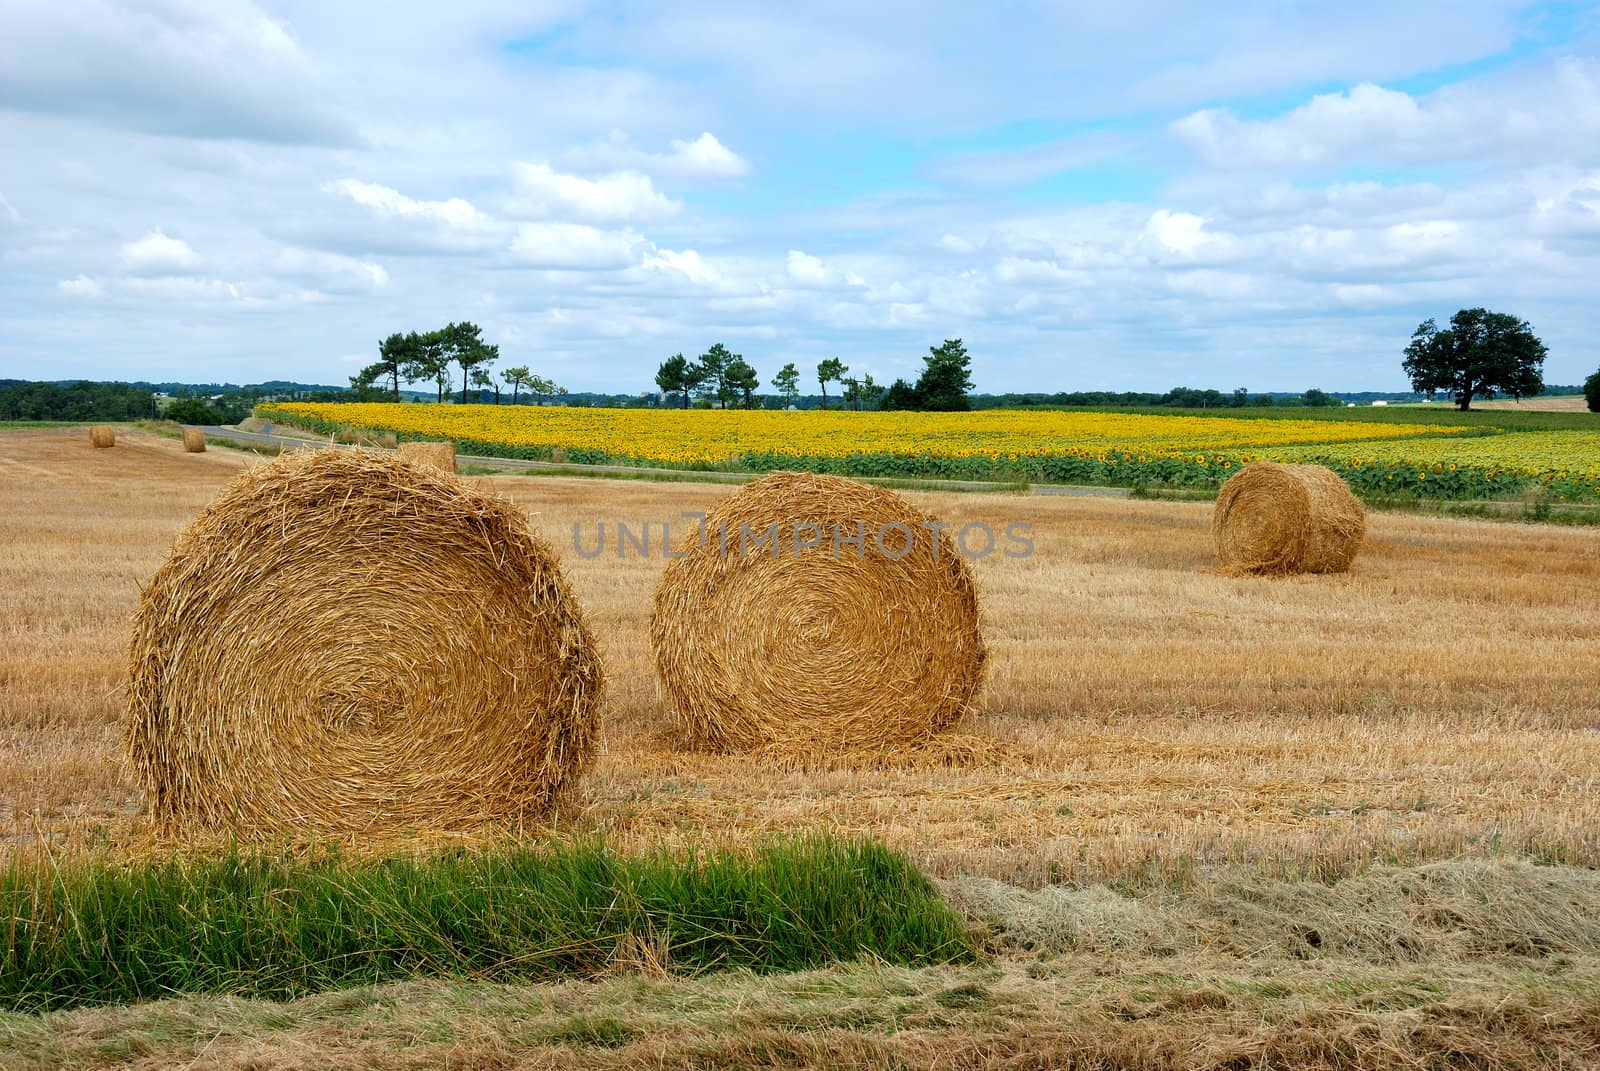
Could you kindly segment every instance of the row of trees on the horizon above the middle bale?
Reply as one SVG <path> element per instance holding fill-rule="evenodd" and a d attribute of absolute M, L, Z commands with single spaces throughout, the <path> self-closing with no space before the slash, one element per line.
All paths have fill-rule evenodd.
<path fill-rule="evenodd" d="M 760 373 L 750 362 L 742 354 L 728 351 L 722 343 L 715 343 L 694 360 L 683 354 L 674 354 L 656 370 L 656 386 L 664 395 L 680 399 L 683 408 L 690 407 L 691 399 L 701 399 L 706 405 L 715 403 L 718 408 L 730 405 L 758 408 L 760 400 L 755 389 L 760 383 Z M 973 389 L 971 357 L 958 338 L 947 338 L 942 346 L 928 347 L 922 375 L 914 384 L 896 379 L 883 386 L 872 379 L 872 373 L 850 375 L 850 365 L 838 357 L 826 357 L 816 363 L 816 384 L 822 392 L 822 408 L 827 408 L 827 384 L 830 383 L 840 386 L 843 407 L 853 410 L 958 411 L 971 408 L 968 397 Z M 784 405 L 794 407 L 800 397 L 800 368 L 790 360 L 778 370 L 771 384 Z"/>

